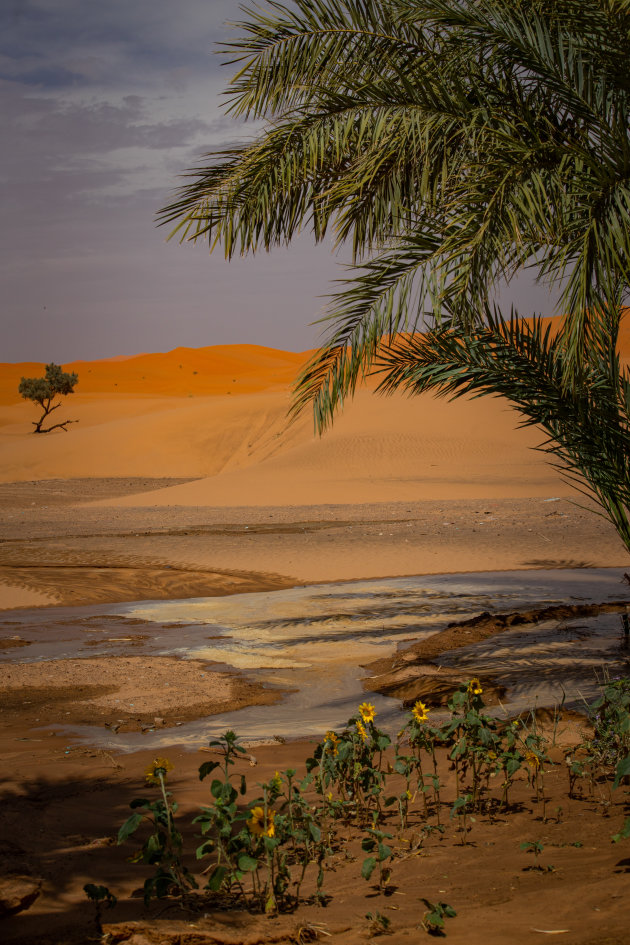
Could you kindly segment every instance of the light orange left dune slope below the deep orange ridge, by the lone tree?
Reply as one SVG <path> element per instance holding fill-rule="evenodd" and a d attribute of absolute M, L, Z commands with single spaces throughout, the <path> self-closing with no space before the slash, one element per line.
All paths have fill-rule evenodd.
<path fill-rule="evenodd" d="M 212 476 L 256 462 L 286 426 L 287 393 L 239 397 L 81 396 L 64 405 L 79 423 L 33 436 L 32 405 L 0 407 L 0 480 L 84 476 Z M 310 420 L 300 429 L 310 428 Z M 285 434 L 291 442 L 296 428 Z"/>

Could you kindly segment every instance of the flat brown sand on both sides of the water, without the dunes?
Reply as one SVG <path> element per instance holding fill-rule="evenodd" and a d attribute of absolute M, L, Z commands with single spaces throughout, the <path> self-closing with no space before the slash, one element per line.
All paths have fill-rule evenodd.
<path fill-rule="evenodd" d="M 127 482 L 120 489 L 124 493 L 137 485 Z M 60 605 L 129 600 L 147 589 L 156 599 L 280 589 L 307 578 L 315 582 L 331 571 L 355 577 L 360 560 L 366 572 L 380 571 L 381 576 L 420 570 L 429 561 L 437 568 L 447 554 L 445 542 L 449 560 L 466 561 L 467 570 L 479 568 L 480 563 L 490 567 L 497 560 L 530 568 L 623 563 L 610 529 L 565 500 L 540 502 L 536 514 L 532 502 L 428 503 L 421 509 L 387 504 L 369 509 L 131 509 L 121 511 L 120 518 L 88 507 L 95 491 L 111 495 L 116 488 L 111 481 L 66 482 L 59 488 L 50 482 L 27 483 L 14 492 L 5 486 L 0 545 L 5 594 L 21 591 L 31 605 L 41 604 L 42 598 Z M 485 524 L 488 518 L 493 521 Z M 523 539 L 521 547 L 515 547 L 515 529 Z M 545 544 L 553 545 L 555 554 L 548 558 L 541 555 L 540 535 L 549 539 Z M 289 562 L 293 569 L 282 566 Z M 248 571 L 245 564 L 255 567 Z M 19 658 L 27 648 L 15 645 L 19 641 L 9 631 L 4 632 L 8 647 L 4 652 Z M 480 638 L 488 632 L 488 626 L 479 627 Z M 442 638 L 437 649 L 415 655 L 426 665 L 444 643 Z M 82 891 L 87 881 L 104 883 L 119 897 L 119 905 L 104 917 L 106 931 L 108 941 L 128 945 L 289 945 L 313 936 L 360 945 L 373 940 L 365 918 L 368 912 L 389 917 L 388 941 L 403 945 L 424 936 L 418 929 L 425 909 L 422 897 L 448 901 L 457 909 L 447 933 L 454 945 L 506 945 L 515 937 L 535 942 L 541 938 L 536 929 L 570 930 L 562 933 L 562 939 L 575 945 L 625 941 L 627 861 L 609 839 L 623 820 L 624 796 L 618 792 L 612 807 L 604 808 L 597 798 L 569 801 L 561 766 L 548 777 L 548 793 L 549 809 L 562 810 L 562 815 L 543 823 L 531 792 L 522 784 L 517 812 L 498 825 L 482 820 L 467 847 L 449 828 L 443 839 L 431 839 L 418 854 L 397 861 L 391 896 L 379 894 L 360 878 L 360 838 L 349 834 L 335 872 L 327 873 L 332 896 L 325 909 L 306 904 L 295 915 L 275 920 L 212 907 L 187 914 L 164 903 L 145 910 L 141 899 L 132 895 L 145 871 L 126 861 L 129 850 L 117 847 L 114 837 L 129 812 L 129 802 L 147 790 L 144 770 L 153 752 L 120 754 L 78 742 L 64 735 L 63 726 L 51 725 L 51 719 L 54 716 L 58 723 L 59 713 L 67 712 L 63 716 L 67 722 L 109 723 L 120 725 L 121 732 L 134 727 L 142 731 L 143 725 L 159 726 L 156 719 L 176 726 L 196 712 L 212 711 L 209 690 L 214 691 L 217 708 L 219 696 L 255 705 L 270 696 L 277 698 L 278 693 L 256 691 L 239 674 L 226 678 L 207 663 L 151 659 L 140 651 L 131 648 L 123 656 L 112 653 L 94 662 L 66 660 L 63 667 L 22 663 L 13 682 L 5 677 L 0 692 L 5 772 L 0 886 L 30 884 L 40 892 L 27 911 L 0 920 L 4 941 L 83 945 L 98 940 Z M 73 675 L 79 662 L 81 677 Z M 125 698 L 138 705 L 121 712 L 117 707 Z M 575 741 L 581 727 L 567 717 L 561 725 L 562 738 Z M 209 736 L 211 717 L 208 729 Z M 208 800 L 207 785 L 197 777 L 199 764 L 208 758 L 204 752 L 208 736 L 183 750 L 177 743 L 177 728 L 170 732 L 171 743 L 164 744 L 160 753 L 175 764 L 170 786 L 181 804 L 187 845 L 194 848 L 199 841 L 190 820 Z M 250 793 L 255 794 L 256 784 L 275 770 L 302 766 L 313 743 L 254 742 L 247 750 L 252 757 L 243 770 Z M 452 791 L 452 785 L 446 789 Z M 544 842 L 553 873 L 527 872 L 529 861 L 519 845 L 531 838 Z M 576 841 L 579 847 L 574 846 Z"/>

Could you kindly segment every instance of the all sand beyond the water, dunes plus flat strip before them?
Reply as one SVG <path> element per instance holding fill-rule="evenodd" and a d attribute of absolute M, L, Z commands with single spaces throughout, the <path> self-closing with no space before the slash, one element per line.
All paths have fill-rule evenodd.
<path fill-rule="evenodd" d="M 186 574 L 192 594 L 200 572 L 287 586 L 624 563 L 505 403 L 360 390 L 319 438 L 309 416 L 286 418 L 305 357 L 241 346 L 64 365 L 79 385 L 60 415 L 79 422 L 43 437 L 16 394 L 42 365 L 4 365 L 0 603 L 151 584 L 176 596 Z M 160 591 L 165 566 L 179 583 Z"/>

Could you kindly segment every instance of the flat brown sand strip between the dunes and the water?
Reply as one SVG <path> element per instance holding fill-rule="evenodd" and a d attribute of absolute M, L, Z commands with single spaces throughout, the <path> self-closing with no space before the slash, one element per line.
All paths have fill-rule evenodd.
<path fill-rule="evenodd" d="M 567 498 L 91 504 L 95 495 L 116 500 L 157 485 L 2 484 L 0 607 L 201 597 L 405 574 L 623 567 L 627 557 L 608 522 Z"/>

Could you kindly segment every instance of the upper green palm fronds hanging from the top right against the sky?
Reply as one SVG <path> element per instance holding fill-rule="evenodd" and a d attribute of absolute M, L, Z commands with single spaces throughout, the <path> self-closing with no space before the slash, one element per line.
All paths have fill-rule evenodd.
<path fill-rule="evenodd" d="M 159 219 L 228 257 L 304 227 L 351 242 L 355 265 L 295 409 L 312 404 L 325 427 L 384 344 L 386 389 L 432 376 L 448 390 L 422 358 L 432 347 L 452 367 L 450 338 L 460 355 L 489 344 L 496 367 L 492 332 L 513 346 L 507 394 L 525 334 L 501 327 L 492 299 L 529 266 L 559 287 L 565 313 L 552 345 L 536 329 L 530 347 L 549 403 L 579 402 L 562 455 L 580 468 L 583 434 L 592 468 L 584 424 L 599 394 L 580 398 L 609 384 L 619 404 L 622 384 L 610 370 L 630 285 L 630 0 L 268 0 L 245 15 L 227 50 L 238 69 L 229 110 L 264 127 L 190 171 Z M 428 347 L 414 338 L 421 327 Z"/>

